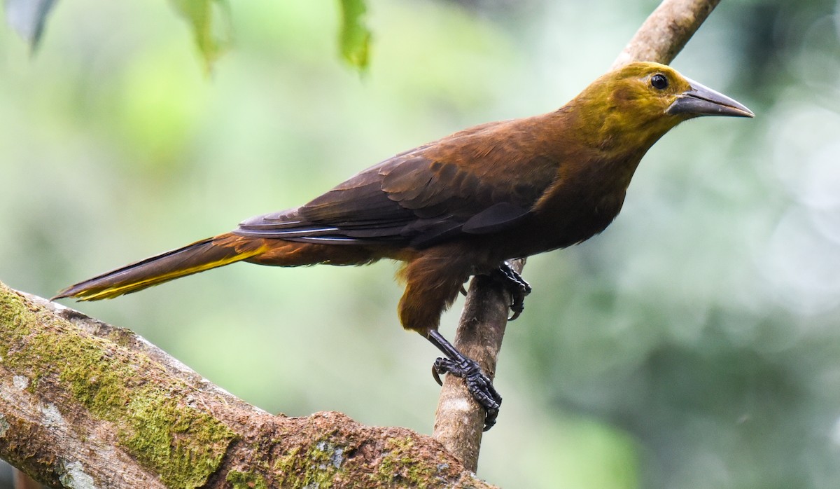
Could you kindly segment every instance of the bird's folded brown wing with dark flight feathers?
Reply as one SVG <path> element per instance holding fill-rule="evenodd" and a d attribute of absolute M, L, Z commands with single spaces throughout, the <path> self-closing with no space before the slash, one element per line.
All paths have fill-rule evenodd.
<path fill-rule="evenodd" d="M 393 156 L 300 208 L 251 218 L 234 233 L 423 248 L 507 229 L 557 175 L 556 163 L 525 150 L 527 134 L 511 130 L 518 122 L 476 126 Z"/>

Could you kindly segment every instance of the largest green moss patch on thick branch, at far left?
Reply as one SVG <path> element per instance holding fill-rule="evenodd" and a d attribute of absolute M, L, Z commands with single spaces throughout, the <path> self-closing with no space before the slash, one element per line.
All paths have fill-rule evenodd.
<path fill-rule="evenodd" d="M 45 327 L 29 326 L 35 323 Z M 145 355 L 29 307 L 3 284 L 0 361 L 29 376 L 30 390 L 50 382 L 93 418 L 113 423 L 123 447 L 167 486 L 202 486 L 236 438 L 221 421 L 190 407 L 187 386 Z M 142 380 L 150 377 L 154 384 Z"/>

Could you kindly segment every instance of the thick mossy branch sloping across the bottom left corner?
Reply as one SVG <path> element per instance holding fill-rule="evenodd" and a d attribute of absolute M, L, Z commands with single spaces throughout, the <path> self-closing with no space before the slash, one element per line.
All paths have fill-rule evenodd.
<path fill-rule="evenodd" d="M 428 436 L 265 413 L 129 330 L 3 284 L 0 458 L 49 486 L 491 487 Z"/>

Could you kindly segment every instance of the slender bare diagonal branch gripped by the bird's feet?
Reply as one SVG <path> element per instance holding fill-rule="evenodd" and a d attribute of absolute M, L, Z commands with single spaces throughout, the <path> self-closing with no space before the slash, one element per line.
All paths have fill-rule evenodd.
<path fill-rule="evenodd" d="M 720 0 L 664 0 L 633 35 L 612 70 L 633 61 L 670 63 L 717 3 Z M 477 361 L 491 379 L 496 373 L 510 303 L 507 293 L 495 287 L 486 277 L 473 279 L 454 339 L 455 346 Z M 500 313 L 502 310 L 505 313 Z M 499 417 L 504 423 L 504 408 Z M 435 413 L 433 436 L 473 471 L 478 466 L 483 419 L 483 409 L 467 392 L 464 382 L 447 378 Z"/>

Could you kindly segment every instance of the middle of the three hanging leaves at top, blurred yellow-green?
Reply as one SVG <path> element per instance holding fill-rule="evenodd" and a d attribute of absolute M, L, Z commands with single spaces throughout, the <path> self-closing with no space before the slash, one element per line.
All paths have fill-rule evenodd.
<path fill-rule="evenodd" d="M 227 0 L 170 0 L 190 23 L 207 71 L 231 44 L 230 7 Z"/>

